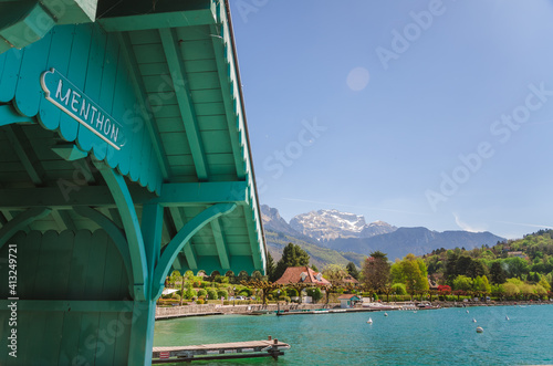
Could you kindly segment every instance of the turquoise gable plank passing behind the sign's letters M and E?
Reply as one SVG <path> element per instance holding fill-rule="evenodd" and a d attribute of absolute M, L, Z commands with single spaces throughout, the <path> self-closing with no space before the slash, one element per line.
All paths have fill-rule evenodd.
<path fill-rule="evenodd" d="M 84 88 L 86 79 L 86 67 L 88 66 L 88 49 L 91 46 L 92 28 L 87 24 L 80 25 L 79 31 L 73 36 L 71 46 L 70 63 L 67 73 L 64 74 L 80 90 Z M 60 117 L 60 134 L 67 140 L 72 142 L 76 138 L 79 132 L 79 123 L 65 113 Z"/>

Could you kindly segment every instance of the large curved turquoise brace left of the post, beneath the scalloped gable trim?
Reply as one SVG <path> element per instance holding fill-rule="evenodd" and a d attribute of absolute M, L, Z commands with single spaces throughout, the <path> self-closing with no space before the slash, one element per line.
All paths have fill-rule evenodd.
<path fill-rule="evenodd" d="M 131 197 L 125 178 L 104 163 L 95 163 L 104 180 L 112 192 L 123 221 L 123 228 L 128 243 L 131 254 L 131 266 L 133 269 L 134 300 L 146 300 L 147 260 L 144 250 L 144 240 L 140 232 L 138 217 L 136 216 L 135 202 Z"/>

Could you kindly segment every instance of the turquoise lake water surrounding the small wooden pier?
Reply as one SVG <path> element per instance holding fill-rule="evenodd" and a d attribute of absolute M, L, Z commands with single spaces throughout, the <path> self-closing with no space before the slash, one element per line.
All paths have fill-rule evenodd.
<path fill-rule="evenodd" d="M 509 316 L 509 321 L 505 320 Z M 368 317 L 373 324 L 367 324 Z M 477 323 L 472 322 L 477 320 Z M 477 326 L 483 333 L 477 333 Z M 155 346 L 267 339 L 289 343 L 278 362 L 192 365 L 553 364 L 553 306 L 494 306 L 293 316 L 218 315 L 156 322 Z"/>

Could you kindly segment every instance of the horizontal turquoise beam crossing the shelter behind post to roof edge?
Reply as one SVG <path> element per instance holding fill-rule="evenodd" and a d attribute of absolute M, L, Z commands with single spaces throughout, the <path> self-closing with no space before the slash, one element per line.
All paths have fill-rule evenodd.
<path fill-rule="evenodd" d="M 143 187 L 128 188 L 136 205 L 156 203 L 163 207 L 247 202 L 244 181 L 164 184 L 157 197 Z M 115 200 L 106 186 L 61 185 L 44 188 L 0 189 L 0 209 L 30 207 L 71 209 L 75 206 L 115 208 Z M 115 218 L 114 218 L 115 220 Z"/>

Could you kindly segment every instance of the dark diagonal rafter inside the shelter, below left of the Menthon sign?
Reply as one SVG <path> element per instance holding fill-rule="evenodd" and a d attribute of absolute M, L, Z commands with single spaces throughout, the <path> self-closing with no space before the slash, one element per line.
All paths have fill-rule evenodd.
<path fill-rule="evenodd" d="M 31 177 L 32 182 L 35 186 L 42 186 L 44 179 L 44 169 L 40 164 L 40 159 L 34 154 L 34 150 L 29 143 L 21 126 L 10 125 L 4 127 L 6 135 L 13 147 L 13 150 L 18 155 L 21 164 Z"/>

